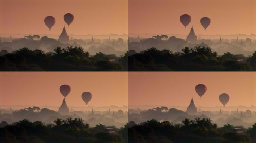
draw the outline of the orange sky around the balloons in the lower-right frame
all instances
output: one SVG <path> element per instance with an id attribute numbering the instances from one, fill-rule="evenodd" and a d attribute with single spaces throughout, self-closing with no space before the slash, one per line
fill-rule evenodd
<path id="1" fill-rule="evenodd" d="M 196 106 L 222 106 L 219 95 L 227 93 L 226 106 L 256 106 L 255 72 L 129 72 L 128 104 L 188 106 L 193 96 Z M 197 84 L 207 86 L 200 99 Z"/>

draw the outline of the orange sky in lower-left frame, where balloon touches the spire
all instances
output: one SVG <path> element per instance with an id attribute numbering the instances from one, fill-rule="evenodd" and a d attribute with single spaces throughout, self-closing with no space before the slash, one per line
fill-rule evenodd
<path id="1" fill-rule="evenodd" d="M 0 105 L 60 106 L 60 86 L 71 86 L 68 106 L 85 107 L 81 94 L 91 92 L 88 106 L 128 105 L 127 72 L 0 72 Z"/>

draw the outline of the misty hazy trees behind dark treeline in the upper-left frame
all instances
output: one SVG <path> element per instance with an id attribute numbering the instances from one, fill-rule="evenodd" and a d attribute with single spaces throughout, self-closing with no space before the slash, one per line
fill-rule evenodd
<path id="1" fill-rule="evenodd" d="M 113 36 L 113 35 L 111 35 Z M 115 35 L 116 37 L 116 35 Z M 93 37 L 92 37 L 93 38 Z M 2 42 L 1 42 L 2 41 Z M 127 51 L 127 40 L 122 38 L 117 39 L 73 39 L 71 38 L 68 44 L 63 44 L 56 39 L 48 38 L 47 36 L 40 37 L 39 35 L 28 35 L 24 38 L 6 38 L 0 37 L 0 50 L 7 50 L 9 53 L 28 47 L 31 50 L 41 49 L 46 53 L 52 52 L 56 47 L 76 46 L 83 47 L 91 54 L 102 52 L 105 54 L 122 55 Z"/>

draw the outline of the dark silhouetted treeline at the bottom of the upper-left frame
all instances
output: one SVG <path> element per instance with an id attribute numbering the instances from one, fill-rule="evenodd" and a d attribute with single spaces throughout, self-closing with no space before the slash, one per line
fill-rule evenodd
<path id="1" fill-rule="evenodd" d="M 1 71 L 122 71 L 121 64 L 109 61 L 101 52 L 90 56 L 82 47 L 57 47 L 54 52 L 45 53 L 41 49 L 22 48 L 13 53 L 2 50 Z"/>

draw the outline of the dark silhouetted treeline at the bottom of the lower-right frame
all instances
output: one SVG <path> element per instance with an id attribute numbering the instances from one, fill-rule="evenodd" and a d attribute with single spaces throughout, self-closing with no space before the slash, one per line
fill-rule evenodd
<path id="1" fill-rule="evenodd" d="M 256 123 L 247 134 L 241 134 L 235 132 L 234 127 L 229 124 L 219 128 L 208 118 L 185 119 L 182 120 L 182 124 L 152 119 L 137 125 L 131 121 L 123 130 L 128 133 L 124 137 L 126 143 L 254 143 L 256 141 Z"/>

